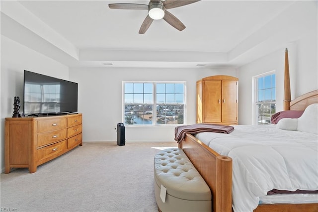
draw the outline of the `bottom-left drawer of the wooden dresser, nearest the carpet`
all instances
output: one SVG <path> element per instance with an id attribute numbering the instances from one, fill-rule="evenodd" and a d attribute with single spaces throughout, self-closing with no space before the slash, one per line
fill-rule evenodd
<path id="1" fill-rule="evenodd" d="M 45 160 L 54 157 L 67 149 L 66 140 L 43 147 L 37 150 L 37 161 Z"/>

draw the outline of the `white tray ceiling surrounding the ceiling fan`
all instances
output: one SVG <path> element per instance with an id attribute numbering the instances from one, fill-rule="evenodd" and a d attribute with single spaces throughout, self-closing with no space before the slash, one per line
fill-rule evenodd
<path id="1" fill-rule="evenodd" d="M 149 0 L 1 1 L 1 34 L 70 67 L 238 67 L 295 39 L 279 40 L 295 1 L 201 0 L 168 10 L 183 31 L 161 19 L 145 34 L 147 10 L 108 7 L 127 2 Z"/>

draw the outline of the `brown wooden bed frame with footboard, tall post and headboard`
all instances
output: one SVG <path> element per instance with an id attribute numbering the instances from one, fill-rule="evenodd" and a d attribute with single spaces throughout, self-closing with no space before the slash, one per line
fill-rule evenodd
<path id="1" fill-rule="evenodd" d="M 286 88 L 287 81 L 288 83 Z M 284 92 L 285 110 L 304 110 L 308 105 L 318 103 L 318 90 L 307 93 L 293 101 L 290 101 L 288 63 L 287 70 L 285 63 Z M 213 198 L 213 211 L 232 212 L 232 158 L 218 154 L 213 149 L 188 133 L 186 134 L 186 137 L 179 143 L 179 148 L 183 149 L 185 154 L 188 156 L 210 187 Z M 264 204 L 259 205 L 253 212 L 318 212 L 318 203 Z"/>

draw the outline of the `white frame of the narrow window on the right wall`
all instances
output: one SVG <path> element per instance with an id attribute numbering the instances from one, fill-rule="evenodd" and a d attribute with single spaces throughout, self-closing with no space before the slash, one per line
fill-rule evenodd
<path id="1" fill-rule="evenodd" d="M 252 123 L 254 125 L 264 125 L 264 124 L 271 124 L 270 122 L 270 119 L 269 119 L 269 123 L 259 123 L 258 121 L 258 105 L 260 104 L 264 104 L 264 102 L 259 102 L 258 101 L 258 79 L 259 78 L 264 78 L 266 76 L 271 76 L 271 75 L 275 75 L 275 86 L 274 87 L 271 87 L 270 89 L 275 89 L 275 101 L 270 101 L 270 102 L 266 102 L 266 104 L 270 104 L 270 105 L 275 105 L 275 111 L 276 111 L 276 90 L 277 90 L 277 75 L 276 75 L 276 71 L 273 70 L 273 71 L 270 71 L 270 72 L 266 72 L 266 73 L 263 73 L 263 74 L 260 74 L 260 75 L 256 75 L 253 77 L 253 84 L 254 84 L 254 101 L 253 101 L 253 116 L 252 116 Z M 272 79 L 271 79 L 271 83 L 272 83 Z M 271 113 L 270 111 L 270 116 L 271 117 L 274 113 Z"/>

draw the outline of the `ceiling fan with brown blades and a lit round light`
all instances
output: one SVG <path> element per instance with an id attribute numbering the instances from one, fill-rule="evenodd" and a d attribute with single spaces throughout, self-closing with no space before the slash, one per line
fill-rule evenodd
<path id="1" fill-rule="evenodd" d="M 199 0 L 150 0 L 149 4 L 109 3 L 108 6 L 111 9 L 147 9 L 148 15 L 139 29 L 139 34 L 144 34 L 152 24 L 153 20 L 159 20 L 161 18 L 174 28 L 182 31 L 185 29 L 185 25 L 173 14 L 168 12 L 167 9 L 184 6 L 196 1 Z"/>

